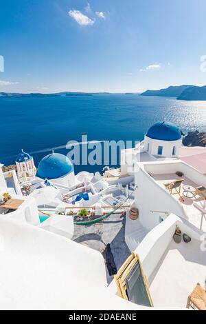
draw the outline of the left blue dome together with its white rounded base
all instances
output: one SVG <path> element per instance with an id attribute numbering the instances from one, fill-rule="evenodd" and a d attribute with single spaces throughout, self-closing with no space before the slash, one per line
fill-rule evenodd
<path id="1" fill-rule="evenodd" d="M 67 186 L 75 183 L 73 164 L 67 156 L 60 153 L 52 152 L 45 156 L 38 165 L 37 176 Z"/>

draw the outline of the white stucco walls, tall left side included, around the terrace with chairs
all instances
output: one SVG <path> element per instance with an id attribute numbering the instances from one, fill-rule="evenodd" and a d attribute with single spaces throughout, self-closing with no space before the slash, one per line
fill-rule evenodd
<path id="1" fill-rule="evenodd" d="M 182 178 L 176 171 L 183 172 Z M 139 208 L 139 220 L 148 230 L 158 225 L 159 217 L 174 213 L 189 220 L 193 225 L 205 232 L 205 215 L 194 207 L 194 201 L 203 197 L 185 198 L 182 203 L 178 195 L 171 195 L 165 189 L 165 183 L 176 179 L 184 179 L 184 185 L 206 186 L 206 178 L 201 172 L 181 160 L 155 161 L 135 165 L 135 205 Z M 181 189 L 183 194 L 183 188 Z M 135 224 L 134 224 L 135 225 Z"/>

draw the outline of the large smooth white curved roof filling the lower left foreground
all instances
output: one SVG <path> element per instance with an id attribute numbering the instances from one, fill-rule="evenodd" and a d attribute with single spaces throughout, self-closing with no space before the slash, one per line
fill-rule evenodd
<path id="1" fill-rule="evenodd" d="M 133 310 L 106 289 L 99 252 L 0 216 L 2 310 Z"/>

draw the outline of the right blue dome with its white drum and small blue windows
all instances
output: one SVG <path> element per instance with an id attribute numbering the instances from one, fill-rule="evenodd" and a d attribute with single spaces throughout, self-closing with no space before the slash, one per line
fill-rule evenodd
<path id="1" fill-rule="evenodd" d="M 177 157 L 181 145 L 181 130 L 165 121 L 152 125 L 144 137 L 144 148 L 153 156 Z"/>

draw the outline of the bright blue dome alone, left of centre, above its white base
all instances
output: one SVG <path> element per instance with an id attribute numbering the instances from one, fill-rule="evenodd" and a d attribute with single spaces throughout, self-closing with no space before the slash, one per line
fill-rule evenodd
<path id="1" fill-rule="evenodd" d="M 73 165 L 67 156 L 52 153 L 40 161 L 37 175 L 42 179 L 58 179 L 71 171 L 73 171 Z"/>

